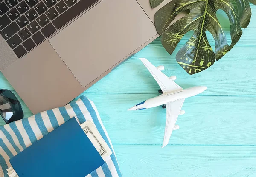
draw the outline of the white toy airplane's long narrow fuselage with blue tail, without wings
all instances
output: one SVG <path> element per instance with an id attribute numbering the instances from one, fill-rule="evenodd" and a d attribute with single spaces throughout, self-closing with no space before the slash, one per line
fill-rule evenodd
<path id="1" fill-rule="evenodd" d="M 151 107 L 157 107 L 163 104 L 168 104 L 180 99 L 189 98 L 195 95 L 198 95 L 199 93 L 202 93 L 204 90 L 206 90 L 206 87 L 204 86 L 196 86 L 191 87 L 188 89 L 180 90 L 180 91 L 174 91 L 169 93 L 163 93 L 162 95 L 156 96 L 154 98 L 150 98 L 146 101 L 143 101 L 134 107 L 131 107 L 130 111 L 132 110 L 143 110 L 148 109 Z"/>

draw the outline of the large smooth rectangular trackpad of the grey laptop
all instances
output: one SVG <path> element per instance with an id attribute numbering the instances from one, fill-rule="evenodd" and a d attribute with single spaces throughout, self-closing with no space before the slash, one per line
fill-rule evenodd
<path id="1" fill-rule="evenodd" d="M 136 0 L 102 0 L 49 42 L 86 87 L 156 34 Z"/>

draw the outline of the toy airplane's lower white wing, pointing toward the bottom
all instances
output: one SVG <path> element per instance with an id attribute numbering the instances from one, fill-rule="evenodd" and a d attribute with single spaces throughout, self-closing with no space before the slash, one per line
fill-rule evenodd
<path id="1" fill-rule="evenodd" d="M 162 147 L 166 146 L 169 143 L 173 128 L 180 114 L 180 110 L 184 103 L 184 100 L 185 98 L 166 104 L 166 127 L 164 131 Z"/>

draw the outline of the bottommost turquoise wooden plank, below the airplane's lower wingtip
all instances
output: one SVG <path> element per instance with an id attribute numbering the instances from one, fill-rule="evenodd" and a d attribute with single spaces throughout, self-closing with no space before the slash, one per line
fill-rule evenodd
<path id="1" fill-rule="evenodd" d="M 255 146 L 114 145 L 123 177 L 255 177 Z"/>

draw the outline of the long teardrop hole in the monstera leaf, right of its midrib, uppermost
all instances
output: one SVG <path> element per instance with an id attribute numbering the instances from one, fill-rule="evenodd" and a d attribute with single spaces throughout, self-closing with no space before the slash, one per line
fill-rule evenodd
<path id="1" fill-rule="evenodd" d="M 227 16 L 226 12 L 224 12 L 222 9 L 219 9 L 218 11 L 216 11 L 216 16 L 218 18 L 218 21 L 221 24 L 221 28 L 222 28 L 224 34 L 226 35 L 227 44 L 231 45 L 232 39 L 231 39 L 231 34 L 230 34 L 230 20 Z"/>

